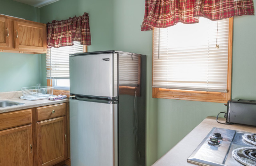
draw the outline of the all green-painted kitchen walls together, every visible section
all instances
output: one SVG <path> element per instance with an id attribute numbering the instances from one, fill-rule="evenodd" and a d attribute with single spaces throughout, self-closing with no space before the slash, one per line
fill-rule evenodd
<path id="1" fill-rule="evenodd" d="M 121 50 L 147 55 L 147 162 L 152 165 L 207 116 L 226 111 L 222 103 L 152 98 L 152 31 L 141 32 L 145 1 L 60 0 L 40 9 L 0 1 L 2 14 L 43 23 L 89 14 L 92 45 L 88 51 Z M 3 5 L 4 3 L 4 5 Z M 255 3 L 255 1 L 254 1 Z M 13 6 L 16 10 L 10 10 Z M 27 12 L 29 11 L 29 12 Z M 40 18 L 39 18 L 40 16 Z M 234 18 L 232 98 L 256 100 L 256 16 Z M 0 53 L 0 92 L 41 81 L 45 56 Z M 17 81 L 19 80 L 19 81 Z M 223 128 L 225 126 L 223 125 Z"/>

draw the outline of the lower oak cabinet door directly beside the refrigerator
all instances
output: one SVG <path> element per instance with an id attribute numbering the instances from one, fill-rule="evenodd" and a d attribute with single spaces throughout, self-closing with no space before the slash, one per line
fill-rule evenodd
<path id="1" fill-rule="evenodd" d="M 67 157 L 66 117 L 37 122 L 38 166 L 52 166 Z"/>

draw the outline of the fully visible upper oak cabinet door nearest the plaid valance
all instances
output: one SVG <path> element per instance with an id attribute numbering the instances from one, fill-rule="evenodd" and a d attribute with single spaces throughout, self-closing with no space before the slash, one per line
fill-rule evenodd
<path id="1" fill-rule="evenodd" d="M 16 49 L 46 53 L 46 25 L 13 20 Z"/>

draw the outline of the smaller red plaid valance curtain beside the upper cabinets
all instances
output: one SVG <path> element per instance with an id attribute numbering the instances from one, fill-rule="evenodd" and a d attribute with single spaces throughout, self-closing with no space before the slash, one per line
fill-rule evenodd
<path id="1" fill-rule="evenodd" d="M 47 23 L 47 48 L 60 48 L 74 45 L 79 41 L 81 45 L 91 45 L 91 32 L 88 13 L 67 20 Z"/>

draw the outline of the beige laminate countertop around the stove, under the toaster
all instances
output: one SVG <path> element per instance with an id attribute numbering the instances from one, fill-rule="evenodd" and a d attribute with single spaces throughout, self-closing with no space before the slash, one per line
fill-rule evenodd
<path id="1" fill-rule="evenodd" d="M 218 120 L 225 121 L 224 118 L 219 118 Z M 256 133 L 256 126 L 219 124 L 216 122 L 216 117 L 207 117 L 152 166 L 196 166 L 188 163 L 187 159 L 213 127 Z"/>

